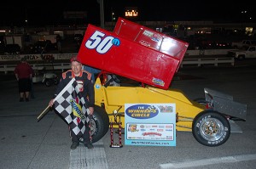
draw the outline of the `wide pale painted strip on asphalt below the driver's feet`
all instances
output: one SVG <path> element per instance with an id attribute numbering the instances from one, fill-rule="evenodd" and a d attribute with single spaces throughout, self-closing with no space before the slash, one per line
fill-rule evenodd
<path id="1" fill-rule="evenodd" d="M 71 149 L 69 169 L 108 169 L 102 140 L 93 145 L 94 149 L 87 149 L 84 144 L 79 144 L 77 149 Z"/>

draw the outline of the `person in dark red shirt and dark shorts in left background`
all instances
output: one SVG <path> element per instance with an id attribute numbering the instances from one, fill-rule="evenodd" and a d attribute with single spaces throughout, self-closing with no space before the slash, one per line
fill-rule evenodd
<path id="1" fill-rule="evenodd" d="M 23 102 L 24 99 L 28 102 L 31 91 L 32 67 L 26 62 L 25 57 L 15 67 L 15 76 L 19 82 L 20 102 Z"/>

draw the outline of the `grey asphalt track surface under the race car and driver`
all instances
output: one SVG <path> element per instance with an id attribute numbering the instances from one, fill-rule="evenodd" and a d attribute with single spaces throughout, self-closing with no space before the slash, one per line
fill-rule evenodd
<path id="1" fill-rule="evenodd" d="M 19 102 L 14 75 L 1 76 L 0 168 L 1 169 L 157 169 L 157 168 L 256 168 L 256 66 L 247 64 L 223 67 L 183 68 L 171 87 L 183 90 L 189 99 L 203 97 L 209 87 L 233 95 L 247 104 L 247 121 L 236 121 L 242 133 L 231 133 L 218 147 L 207 147 L 193 138 L 192 132 L 177 132 L 175 147 L 130 146 L 110 148 L 109 132 L 95 149 L 79 145 L 71 150 L 67 124 L 53 111 L 41 121 L 55 86 L 34 84 L 35 99 Z M 114 134 L 115 142 L 118 135 Z M 124 135 L 122 135 L 124 142 Z"/>

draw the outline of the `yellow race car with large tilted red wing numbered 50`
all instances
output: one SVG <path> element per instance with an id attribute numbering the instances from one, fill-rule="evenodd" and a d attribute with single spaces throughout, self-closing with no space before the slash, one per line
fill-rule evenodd
<path id="1" fill-rule="evenodd" d="M 224 144 L 234 121 L 246 121 L 247 105 L 210 88 L 204 89 L 205 98 L 195 100 L 170 88 L 188 46 L 187 42 L 123 18 L 119 18 L 113 32 L 88 25 L 78 57 L 84 65 L 102 70 L 95 83 L 92 141 L 108 132 L 109 122 L 115 122 L 116 128 L 120 122 L 125 128 L 127 103 L 174 103 L 177 131 L 192 132 L 206 146 Z M 124 76 L 140 85 L 110 86 L 108 74 Z"/>

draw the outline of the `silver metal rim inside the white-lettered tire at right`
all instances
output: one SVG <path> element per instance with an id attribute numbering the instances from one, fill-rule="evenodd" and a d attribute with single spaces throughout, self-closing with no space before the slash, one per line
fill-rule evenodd
<path id="1" fill-rule="evenodd" d="M 215 118 L 206 118 L 201 122 L 201 136 L 208 141 L 216 141 L 224 135 L 224 125 Z"/>

